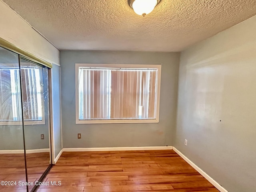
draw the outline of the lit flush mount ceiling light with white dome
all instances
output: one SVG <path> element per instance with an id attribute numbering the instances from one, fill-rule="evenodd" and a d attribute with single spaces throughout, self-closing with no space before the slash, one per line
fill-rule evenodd
<path id="1" fill-rule="evenodd" d="M 152 12 L 160 0 L 129 0 L 130 7 L 138 15 L 145 16 Z"/>

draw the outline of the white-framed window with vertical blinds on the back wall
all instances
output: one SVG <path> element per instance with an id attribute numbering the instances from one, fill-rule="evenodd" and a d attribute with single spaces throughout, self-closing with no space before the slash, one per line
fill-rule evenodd
<path id="1" fill-rule="evenodd" d="M 76 64 L 76 124 L 158 122 L 161 65 Z"/>

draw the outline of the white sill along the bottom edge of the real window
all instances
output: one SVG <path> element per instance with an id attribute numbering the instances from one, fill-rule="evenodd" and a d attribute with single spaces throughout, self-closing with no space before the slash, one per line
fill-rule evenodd
<path id="1" fill-rule="evenodd" d="M 159 123 L 157 119 L 132 120 L 76 120 L 76 124 L 116 124 L 116 123 Z"/>

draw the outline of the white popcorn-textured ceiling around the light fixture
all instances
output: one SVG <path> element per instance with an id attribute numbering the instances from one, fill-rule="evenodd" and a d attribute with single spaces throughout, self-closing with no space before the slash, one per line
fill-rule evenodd
<path id="1" fill-rule="evenodd" d="M 256 15 L 256 0 L 161 0 L 145 17 L 127 0 L 3 0 L 60 50 L 184 50 Z"/>

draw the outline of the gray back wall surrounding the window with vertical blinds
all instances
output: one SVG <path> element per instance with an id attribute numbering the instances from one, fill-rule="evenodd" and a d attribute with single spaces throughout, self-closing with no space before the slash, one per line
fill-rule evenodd
<path id="1" fill-rule="evenodd" d="M 172 146 L 179 53 L 61 51 L 63 148 Z M 151 124 L 75 124 L 75 63 L 162 64 L 160 119 Z M 82 139 L 77 139 L 77 134 Z"/>

